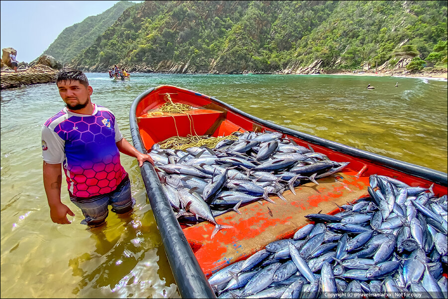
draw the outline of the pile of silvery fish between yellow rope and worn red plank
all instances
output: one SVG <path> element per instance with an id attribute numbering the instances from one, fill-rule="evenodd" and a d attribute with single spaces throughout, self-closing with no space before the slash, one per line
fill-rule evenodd
<path id="1" fill-rule="evenodd" d="M 192 147 L 160 149 L 149 154 L 180 222 L 208 220 L 215 224 L 212 238 L 223 228 L 215 217 L 238 211 L 258 200 L 274 202 L 269 195 L 282 193 L 308 181 L 334 174 L 348 162 L 331 161 L 311 148 L 298 146 L 281 133 L 237 132 L 237 140 L 224 139 L 215 149 Z"/>

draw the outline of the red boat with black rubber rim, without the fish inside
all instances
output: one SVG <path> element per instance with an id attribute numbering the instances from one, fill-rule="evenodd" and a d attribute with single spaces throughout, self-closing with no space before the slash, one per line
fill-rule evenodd
<path id="1" fill-rule="evenodd" d="M 148 114 L 156 111 L 169 94 L 171 100 L 193 107 L 188 114 Z M 194 131 L 192 130 L 194 126 Z M 179 135 L 225 136 L 234 131 L 281 132 L 301 146 L 312 146 L 334 161 L 350 162 L 335 176 L 295 188 L 296 195 L 285 191 L 288 202 L 271 197 L 276 204 L 255 202 L 229 212 L 216 220 L 233 228 L 221 230 L 211 239 L 214 225 L 202 222 L 190 227 L 179 225 L 163 193 L 154 168 L 145 162 L 141 174 L 165 245 L 168 260 L 183 298 L 215 298 L 207 277 L 225 266 L 245 259 L 266 244 L 290 238 L 307 224 L 306 214 L 335 213 L 336 204 L 367 196 L 369 175 L 397 178 L 411 186 L 429 187 L 434 193 L 447 194 L 447 173 L 348 147 L 316 136 L 284 128 L 251 116 L 224 102 L 174 86 L 158 86 L 139 95 L 130 109 L 130 129 L 136 149 L 146 152 L 155 143 Z"/>

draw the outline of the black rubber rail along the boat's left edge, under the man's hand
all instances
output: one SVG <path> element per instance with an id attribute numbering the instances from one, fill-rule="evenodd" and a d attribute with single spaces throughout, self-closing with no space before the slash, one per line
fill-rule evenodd
<path id="1" fill-rule="evenodd" d="M 147 152 L 140 138 L 135 110 L 137 104 L 153 90 L 154 88 L 151 88 L 139 95 L 132 103 L 129 113 L 132 142 L 134 147 L 142 153 Z M 154 167 L 149 162 L 144 162 L 140 172 L 180 295 L 182 298 L 216 298 L 174 216 Z"/>

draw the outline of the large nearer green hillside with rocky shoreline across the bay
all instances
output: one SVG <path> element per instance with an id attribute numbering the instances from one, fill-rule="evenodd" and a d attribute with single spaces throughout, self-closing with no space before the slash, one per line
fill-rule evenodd
<path id="1" fill-rule="evenodd" d="M 437 46 L 439 45 L 439 46 Z M 145 1 L 70 64 L 272 72 L 447 60 L 447 1 Z"/>

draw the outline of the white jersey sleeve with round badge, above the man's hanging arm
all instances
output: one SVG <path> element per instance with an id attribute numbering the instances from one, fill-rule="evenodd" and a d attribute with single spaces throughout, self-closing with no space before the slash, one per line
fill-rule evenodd
<path id="1" fill-rule="evenodd" d="M 116 134 L 115 134 L 116 135 Z M 59 164 L 65 160 L 65 141 L 53 130 L 42 126 L 42 159 L 49 164 Z"/>

